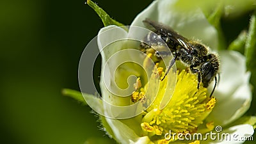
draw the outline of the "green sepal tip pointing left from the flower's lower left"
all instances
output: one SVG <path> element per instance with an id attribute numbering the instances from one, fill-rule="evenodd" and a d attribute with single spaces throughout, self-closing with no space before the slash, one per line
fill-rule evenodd
<path id="1" fill-rule="evenodd" d="M 62 94 L 68 97 L 72 97 L 73 99 L 76 99 L 78 102 L 80 102 L 83 105 L 87 105 L 87 102 L 84 100 L 82 93 L 79 91 L 64 88 L 62 90 Z M 92 97 L 94 96 L 92 95 Z"/>

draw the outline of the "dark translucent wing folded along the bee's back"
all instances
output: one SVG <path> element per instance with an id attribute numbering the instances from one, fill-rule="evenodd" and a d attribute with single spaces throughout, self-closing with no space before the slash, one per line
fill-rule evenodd
<path id="1" fill-rule="evenodd" d="M 143 20 L 143 23 L 148 29 L 157 33 L 157 35 L 166 36 L 170 38 L 170 40 L 172 40 L 173 42 L 177 42 L 177 44 L 184 47 L 185 49 L 192 51 L 191 44 L 189 44 L 189 40 L 179 35 L 172 28 L 150 19 Z"/>

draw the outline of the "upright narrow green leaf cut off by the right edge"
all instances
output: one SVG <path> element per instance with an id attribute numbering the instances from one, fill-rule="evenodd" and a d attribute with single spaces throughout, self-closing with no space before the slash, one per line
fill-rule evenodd
<path id="1" fill-rule="evenodd" d="M 245 52 L 246 56 L 246 67 L 248 70 L 255 72 L 256 71 L 256 16 L 255 14 L 251 17 L 250 27 L 248 31 L 248 37 L 245 43 Z"/>

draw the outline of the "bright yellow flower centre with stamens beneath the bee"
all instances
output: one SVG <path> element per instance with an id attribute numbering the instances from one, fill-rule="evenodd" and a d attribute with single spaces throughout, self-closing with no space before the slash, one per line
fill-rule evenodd
<path id="1" fill-rule="evenodd" d="M 162 73 L 161 76 L 164 76 L 163 68 L 157 68 L 157 71 Z M 152 75 L 156 74 L 157 72 L 153 72 Z M 164 134 L 170 131 L 172 134 L 196 132 L 198 125 L 204 123 L 204 119 L 211 113 L 216 103 L 214 97 L 207 96 L 207 88 L 202 85 L 197 88 L 198 82 L 195 74 L 181 70 L 177 71 L 177 83 L 172 99 L 164 109 L 160 109 L 159 106 L 166 90 L 167 81 L 167 77 L 160 81 L 156 100 L 143 114 L 141 122 L 143 135 L 149 136 L 153 141 L 158 141 L 157 143 L 169 143 L 170 141 L 164 139 Z M 138 86 L 136 88 L 137 92 L 132 93 L 132 102 L 143 99 L 148 87 L 146 84 L 143 88 L 138 88 Z M 211 129 L 212 125 L 207 124 L 206 127 Z"/>

